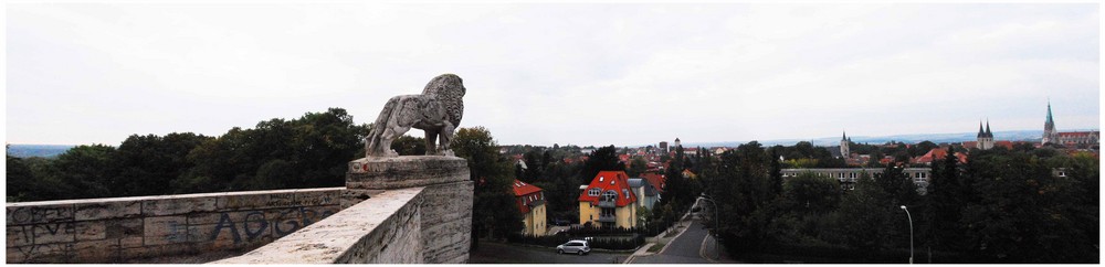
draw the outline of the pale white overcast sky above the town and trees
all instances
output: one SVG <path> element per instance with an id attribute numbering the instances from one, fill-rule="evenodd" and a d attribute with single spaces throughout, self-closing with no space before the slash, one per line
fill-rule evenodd
<path id="1" fill-rule="evenodd" d="M 455 73 L 502 145 L 1099 127 L 1096 3 L 9 3 L 7 142 L 356 122 Z M 421 136 L 421 130 L 409 135 Z"/>

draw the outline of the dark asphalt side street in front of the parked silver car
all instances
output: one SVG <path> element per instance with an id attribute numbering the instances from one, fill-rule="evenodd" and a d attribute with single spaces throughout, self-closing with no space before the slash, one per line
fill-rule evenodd
<path id="1" fill-rule="evenodd" d="M 698 239 L 699 242 L 702 238 Z M 588 255 L 556 254 L 552 248 L 517 246 L 480 241 L 470 264 L 621 264 L 630 253 L 591 252 Z"/>

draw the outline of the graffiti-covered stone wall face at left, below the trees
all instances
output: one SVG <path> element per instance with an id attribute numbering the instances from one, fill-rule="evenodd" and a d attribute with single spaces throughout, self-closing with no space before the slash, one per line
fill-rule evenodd
<path id="1" fill-rule="evenodd" d="M 122 263 L 249 249 L 340 211 L 345 188 L 7 204 L 7 263 Z"/>

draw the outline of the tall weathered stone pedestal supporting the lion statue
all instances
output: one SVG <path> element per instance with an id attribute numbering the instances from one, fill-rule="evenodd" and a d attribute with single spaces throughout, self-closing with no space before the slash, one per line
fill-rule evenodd
<path id="1" fill-rule="evenodd" d="M 421 203 L 423 263 L 463 264 L 472 243 L 473 182 L 456 157 L 404 156 L 349 162 L 343 207 L 388 190 L 424 186 Z"/>

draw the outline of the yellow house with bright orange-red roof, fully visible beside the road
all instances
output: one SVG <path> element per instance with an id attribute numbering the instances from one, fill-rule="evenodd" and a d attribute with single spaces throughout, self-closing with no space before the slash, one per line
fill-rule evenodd
<path id="1" fill-rule="evenodd" d="M 636 227 L 636 194 L 624 171 L 601 171 L 579 194 L 579 224 Z"/>

